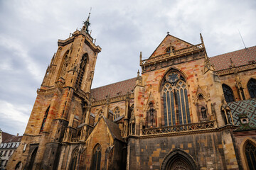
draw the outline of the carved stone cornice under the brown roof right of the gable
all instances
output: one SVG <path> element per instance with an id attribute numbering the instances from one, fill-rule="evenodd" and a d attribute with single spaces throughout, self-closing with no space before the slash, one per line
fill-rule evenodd
<path id="1" fill-rule="evenodd" d="M 234 74 L 234 71 L 236 72 L 245 72 L 250 69 L 256 69 L 256 63 L 246 64 L 235 68 L 228 68 L 228 69 L 221 69 L 218 71 L 215 71 L 218 76 L 225 76 L 228 74 Z"/>

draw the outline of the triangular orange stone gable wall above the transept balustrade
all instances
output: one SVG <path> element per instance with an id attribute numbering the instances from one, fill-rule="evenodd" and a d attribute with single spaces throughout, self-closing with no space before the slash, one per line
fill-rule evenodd
<path id="1" fill-rule="evenodd" d="M 164 55 L 169 47 L 174 47 L 174 50 L 181 50 L 186 47 L 191 47 L 192 44 L 174 37 L 173 35 L 166 35 L 160 45 L 154 50 L 150 57 L 156 57 L 158 55 Z M 149 58 L 150 58 L 149 57 Z"/>

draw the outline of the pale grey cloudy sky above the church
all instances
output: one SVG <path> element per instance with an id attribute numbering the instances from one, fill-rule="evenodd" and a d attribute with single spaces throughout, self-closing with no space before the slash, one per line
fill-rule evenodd
<path id="1" fill-rule="evenodd" d="M 0 128 L 23 134 L 36 89 L 58 39 L 90 16 L 102 47 L 92 87 L 137 76 L 139 52 L 151 55 L 170 32 L 192 44 L 203 34 L 208 56 L 256 45 L 256 1 L 4 1 L 0 0 Z"/>

